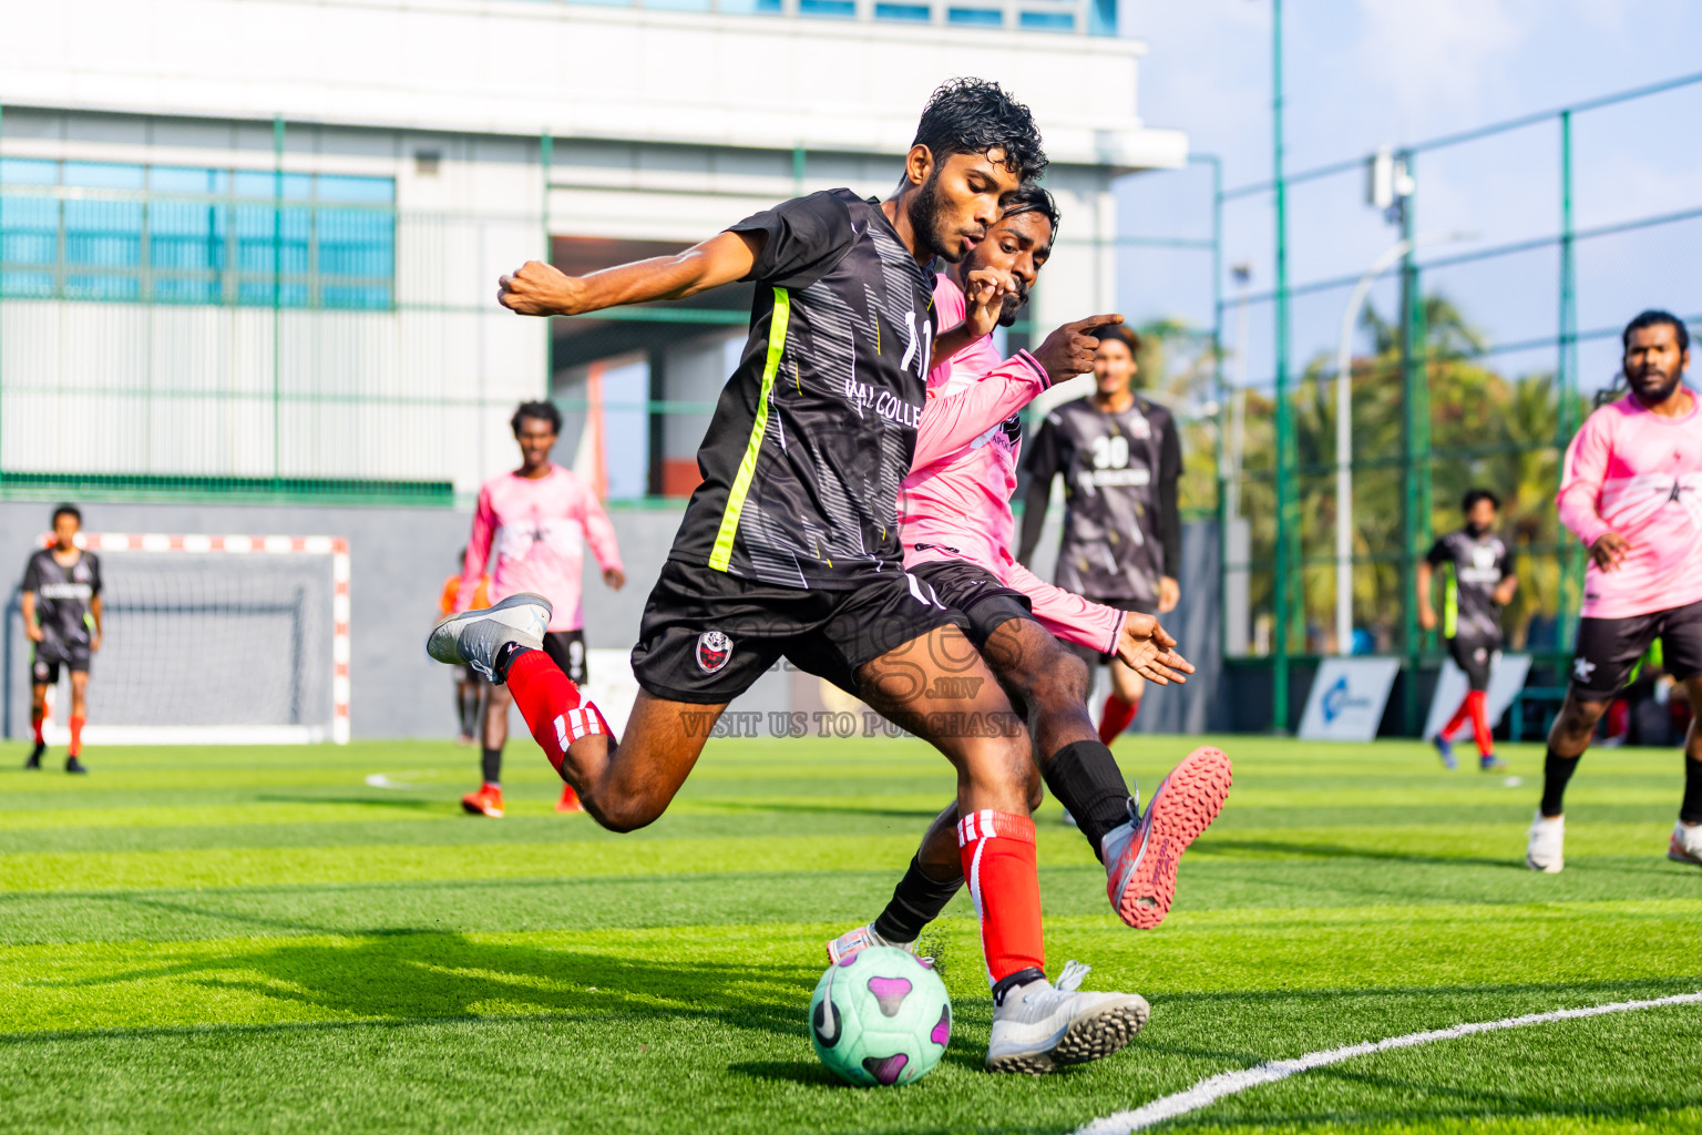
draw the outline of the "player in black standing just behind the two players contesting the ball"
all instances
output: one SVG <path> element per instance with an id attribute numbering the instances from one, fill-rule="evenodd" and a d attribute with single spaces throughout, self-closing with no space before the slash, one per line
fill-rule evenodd
<path id="1" fill-rule="evenodd" d="M 1127 327 L 1094 332 L 1094 393 L 1052 410 L 1028 449 L 1028 493 L 1016 558 L 1028 563 L 1047 519 L 1052 478 L 1064 475 L 1064 541 L 1054 582 L 1122 611 L 1169 614 L 1181 587 L 1181 441 L 1171 412 L 1132 388 L 1140 337 Z M 1099 715 L 1110 745 L 1140 711 L 1145 682 L 1120 659 L 1071 647 L 1111 667 Z"/>

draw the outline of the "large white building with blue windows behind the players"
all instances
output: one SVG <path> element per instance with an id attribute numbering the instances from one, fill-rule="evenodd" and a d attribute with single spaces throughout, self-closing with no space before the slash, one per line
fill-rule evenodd
<path id="1" fill-rule="evenodd" d="M 979 75 L 1054 160 L 1037 320 L 1105 310 L 1111 179 L 1186 157 L 1115 31 L 1115 0 L 7 5 L 0 476 L 465 500 L 514 403 L 596 364 L 611 495 L 677 493 L 749 296 L 546 328 L 497 276 L 885 194 L 928 92 Z"/>

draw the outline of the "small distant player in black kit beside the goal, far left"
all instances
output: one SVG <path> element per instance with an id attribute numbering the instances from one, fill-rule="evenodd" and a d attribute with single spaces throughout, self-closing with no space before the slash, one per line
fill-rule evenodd
<path id="1" fill-rule="evenodd" d="M 34 643 L 31 657 L 29 720 L 36 727 L 36 747 L 29 750 L 26 769 L 41 767 L 48 742 L 41 737 L 48 716 L 48 689 L 58 686 L 60 667 L 71 674 L 71 745 L 65 771 L 83 767 L 83 721 L 89 720 L 89 659 L 100 650 L 100 560 L 77 546 L 83 514 L 77 505 L 61 504 L 53 510 L 53 546 L 43 548 L 24 567 L 20 606 L 24 633 Z"/>

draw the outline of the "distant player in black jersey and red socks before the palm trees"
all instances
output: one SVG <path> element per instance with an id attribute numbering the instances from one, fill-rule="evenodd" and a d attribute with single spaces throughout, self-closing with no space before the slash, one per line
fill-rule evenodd
<path id="1" fill-rule="evenodd" d="M 1511 572 L 1506 545 L 1494 534 L 1499 499 L 1488 488 L 1472 488 L 1460 500 L 1465 528 L 1436 538 L 1430 555 L 1418 565 L 1418 625 L 1436 630 L 1436 609 L 1430 602 L 1435 568 L 1443 568 L 1447 592 L 1442 604 L 1442 636 L 1455 665 L 1465 672 L 1465 699 L 1435 735 L 1433 744 L 1447 767 L 1455 767 L 1454 744 L 1448 740 L 1467 718 L 1477 740 L 1477 767 L 1494 773 L 1506 766 L 1494 756 L 1489 715 L 1484 698 L 1489 691 L 1489 667 L 1501 650 L 1501 607 L 1513 599 L 1518 577 Z"/>

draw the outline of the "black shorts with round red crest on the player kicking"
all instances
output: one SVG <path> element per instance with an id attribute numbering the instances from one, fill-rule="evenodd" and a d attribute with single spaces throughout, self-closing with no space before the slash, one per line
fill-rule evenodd
<path id="1" fill-rule="evenodd" d="M 897 568 L 849 590 L 807 590 L 669 560 L 643 607 L 633 676 L 654 698 L 718 704 L 785 657 L 861 696 L 860 667 L 948 623 L 968 619 Z"/>

